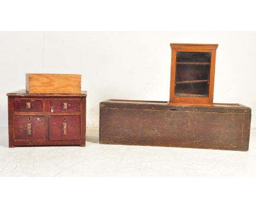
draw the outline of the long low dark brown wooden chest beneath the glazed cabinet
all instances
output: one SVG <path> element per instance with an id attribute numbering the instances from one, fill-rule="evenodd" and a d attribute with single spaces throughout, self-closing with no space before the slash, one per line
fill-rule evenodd
<path id="1" fill-rule="evenodd" d="M 247 151 L 251 108 L 240 104 L 100 103 L 100 143 Z"/>

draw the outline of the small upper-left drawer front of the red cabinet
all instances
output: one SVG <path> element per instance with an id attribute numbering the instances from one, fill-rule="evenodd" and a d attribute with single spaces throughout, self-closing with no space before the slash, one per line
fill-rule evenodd
<path id="1" fill-rule="evenodd" d="M 13 107 L 16 112 L 43 112 L 43 101 L 15 100 Z"/>

